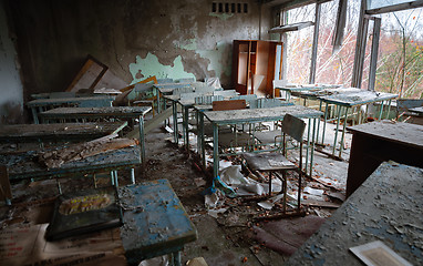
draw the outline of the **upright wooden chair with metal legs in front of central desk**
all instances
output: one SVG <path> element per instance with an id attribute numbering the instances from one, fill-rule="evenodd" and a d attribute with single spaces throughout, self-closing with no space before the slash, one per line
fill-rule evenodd
<path id="1" fill-rule="evenodd" d="M 287 215 L 287 171 L 297 171 L 299 173 L 298 180 L 298 207 L 297 214 L 301 211 L 301 180 L 302 180 L 302 135 L 306 129 L 306 123 L 290 114 L 286 114 L 281 124 L 282 131 L 282 153 L 244 153 L 243 157 L 247 163 L 247 166 L 252 172 L 269 172 L 269 195 L 271 195 L 271 178 L 274 172 L 282 173 L 282 192 L 283 192 L 283 205 L 282 216 Z M 299 166 L 290 162 L 287 157 L 286 137 L 291 136 L 299 142 Z M 280 176 L 277 175 L 279 178 Z"/>

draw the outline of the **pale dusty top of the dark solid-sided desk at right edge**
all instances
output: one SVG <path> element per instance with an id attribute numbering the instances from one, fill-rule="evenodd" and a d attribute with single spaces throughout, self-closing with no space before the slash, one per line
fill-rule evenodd
<path id="1" fill-rule="evenodd" d="M 423 125 L 381 121 L 348 126 L 347 129 L 353 134 L 364 134 L 412 147 L 423 149 Z"/>

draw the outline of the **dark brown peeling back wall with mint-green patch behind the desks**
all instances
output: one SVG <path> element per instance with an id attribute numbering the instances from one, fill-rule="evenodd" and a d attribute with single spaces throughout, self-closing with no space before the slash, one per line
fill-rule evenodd
<path id="1" fill-rule="evenodd" d="M 248 13 L 223 14 L 210 0 L 9 0 L 25 96 L 63 91 L 86 54 L 127 83 L 218 76 L 228 86 L 233 40 L 267 39 L 271 21 L 258 1 L 244 2 Z"/>

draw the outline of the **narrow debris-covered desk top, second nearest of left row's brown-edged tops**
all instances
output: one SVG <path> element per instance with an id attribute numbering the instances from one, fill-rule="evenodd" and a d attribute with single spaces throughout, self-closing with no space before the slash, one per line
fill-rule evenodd
<path id="1" fill-rule="evenodd" d="M 138 117 L 152 110 L 151 106 L 112 106 L 112 108 L 59 108 L 40 113 L 41 117 Z"/>

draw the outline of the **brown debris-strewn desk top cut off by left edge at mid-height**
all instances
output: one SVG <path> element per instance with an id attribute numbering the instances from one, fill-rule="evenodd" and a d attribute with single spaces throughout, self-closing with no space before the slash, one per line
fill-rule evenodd
<path id="1" fill-rule="evenodd" d="M 120 132 L 127 125 L 123 122 L 102 123 L 58 123 L 58 124 L 14 124 L 0 127 L 0 142 L 69 141 L 93 140 Z"/>

